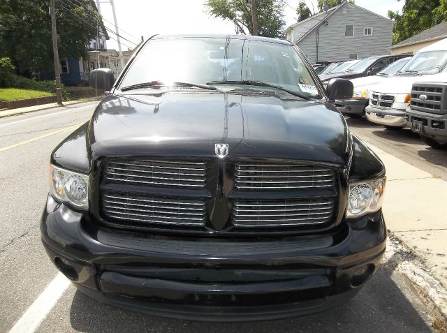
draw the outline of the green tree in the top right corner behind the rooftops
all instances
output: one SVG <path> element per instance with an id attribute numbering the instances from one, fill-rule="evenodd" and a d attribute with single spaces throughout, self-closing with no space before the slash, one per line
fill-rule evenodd
<path id="1" fill-rule="evenodd" d="M 447 0 L 406 0 L 402 14 L 388 10 L 394 21 L 393 44 L 447 20 Z"/>

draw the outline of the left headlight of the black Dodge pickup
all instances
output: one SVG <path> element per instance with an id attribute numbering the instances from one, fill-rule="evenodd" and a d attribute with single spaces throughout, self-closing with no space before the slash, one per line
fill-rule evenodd
<path id="1" fill-rule="evenodd" d="M 60 202 L 89 208 L 89 176 L 50 165 L 50 193 Z"/>

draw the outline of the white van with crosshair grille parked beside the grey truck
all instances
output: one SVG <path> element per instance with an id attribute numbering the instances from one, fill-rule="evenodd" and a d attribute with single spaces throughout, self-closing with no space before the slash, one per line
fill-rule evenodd
<path id="1" fill-rule="evenodd" d="M 395 129 L 407 126 L 406 107 L 411 101 L 413 82 L 430 81 L 433 74 L 446 71 L 447 38 L 420 49 L 395 77 L 377 84 L 366 107 L 369 121 Z"/>

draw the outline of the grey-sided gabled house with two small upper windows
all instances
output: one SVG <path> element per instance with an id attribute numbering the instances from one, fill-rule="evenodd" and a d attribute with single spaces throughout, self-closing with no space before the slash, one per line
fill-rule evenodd
<path id="1" fill-rule="evenodd" d="M 344 2 L 285 31 L 312 64 L 390 54 L 393 21 Z"/>

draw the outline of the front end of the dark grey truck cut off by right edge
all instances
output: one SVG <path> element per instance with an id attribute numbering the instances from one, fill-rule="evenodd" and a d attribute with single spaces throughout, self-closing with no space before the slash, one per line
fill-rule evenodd
<path id="1" fill-rule="evenodd" d="M 447 149 L 447 83 L 414 83 L 406 117 L 427 145 Z"/>

